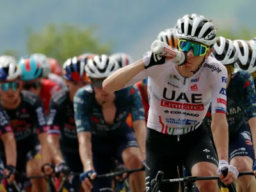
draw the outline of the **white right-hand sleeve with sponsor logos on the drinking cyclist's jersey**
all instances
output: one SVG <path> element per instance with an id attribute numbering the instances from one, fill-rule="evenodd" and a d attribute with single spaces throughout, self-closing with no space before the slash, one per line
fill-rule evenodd
<path id="1" fill-rule="evenodd" d="M 227 108 L 227 68 L 224 65 L 220 65 L 220 72 L 211 72 L 211 97 L 212 97 L 212 114 L 223 113 L 226 114 Z"/>

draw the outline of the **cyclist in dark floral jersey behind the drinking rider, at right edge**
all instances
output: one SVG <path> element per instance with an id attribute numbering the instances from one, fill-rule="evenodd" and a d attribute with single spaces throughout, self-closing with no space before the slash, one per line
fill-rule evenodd
<path id="1" fill-rule="evenodd" d="M 245 44 L 245 45 L 244 45 Z M 255 159 L 255 152 L 253 150 L 252 135 L 256 134 L 256 93 L 252 76 L 249 72 L 239 70 L 234 72 L 234 63 L 240 65 L 241 58 L 239 52 L 247 46 L 250 52 L 244 54 L 255 54 L 255 48 L 251 47 L 245 41 L 243 44 L 235 41 L 219 37 L 214 45 L 212 55 L 225 67 L 228 71 L 227 78 L 227 102 L 218 99 L 218 102 L 223 102 L 227 105 L 227 122 L 229 132 L 229 161 L 230 164 L 236 166 L 239 172 L 252 172 L 253 161 Z M 256 47 L 256 46 L 255 46 Z M 254 53 L 255 52 L 255 53 Z M 238 55 L 238 60 L 237 60 Z M 241 55 L 241 54 L 240 54 Z M 248 58 L 248 65 L 250 60 Z M 226 92 L 225 92 L 226 94 Z M 248 118 L 249 127 L 244 118 Z M 208 109 L 204 120 L 207 127 L 211 127 L 211 107 Z M 252 134 L 251 134 L 252 131 Z M 256 138 L 255 138 L 256 140 Z M 255 144 L 254 144 L 255 145 Z M 256 147 L 256 146 L 255 146 Z M 206 150 L 206 149 L 205 149 Z M 205 153 L 207 153 L 205 151 Z M 239 188 L 242 191 L 256 191 L 256 180 L 252 176 L 239 177 Z"/>

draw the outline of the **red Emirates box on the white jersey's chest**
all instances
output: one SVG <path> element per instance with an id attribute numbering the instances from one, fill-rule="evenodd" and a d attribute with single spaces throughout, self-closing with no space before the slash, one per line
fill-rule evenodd
<path id="1" fill-rule="evenodd" d="M 193 111 L 203 111 L 204 110 L 204 104 L 187 104 L 187 103 L 181 103 L 181 102 L 172 102 L 168 100 L 161 100 L 161 106 L 164 106 L 166 108 L 175 108 L 175 109 L 187 109 L 187 110 L 193 110 Z"/>

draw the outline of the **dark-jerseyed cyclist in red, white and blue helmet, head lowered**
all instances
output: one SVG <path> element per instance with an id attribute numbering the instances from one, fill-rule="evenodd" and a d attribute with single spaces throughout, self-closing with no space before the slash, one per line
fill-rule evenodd
<path id="1" fill-rule="evenodd" d="M 47 132 L 48 141 L 56 168 L 61 173 L 68 173 L 68 170 L 76 173 L 83 172 L 74 121 L 73 97 L 79 88 L 88 84 L 84 70 L 85 63 L 86 58 L 79 60 L 77 57 L 69 58 L 64 63 L 63 71 L 67 88 L 56 93 L 50 101 L 47 120 L 50 126 Z M 68 188 L 68 191 L 71 191 L 70 188 L 79 191 L 79 180 L 77 182 L 73 179 L 71 186 L 66 182 L 65 188 Z"/>

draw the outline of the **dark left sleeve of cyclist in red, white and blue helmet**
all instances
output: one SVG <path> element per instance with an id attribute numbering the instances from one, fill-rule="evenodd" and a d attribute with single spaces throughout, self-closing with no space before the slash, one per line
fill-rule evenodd
<path id="1" fill-rule="evenodd" d="M 47 117 L 47 125 L 49 126 L 49 130 L 47 134 L 56 134 L 60 135 L 60 129 L 63 127 L 63 109 L 61 109 L 61 105 L 54 102 L 54 98 L 50 100 L 50 109 L 49 115 Z"/>

